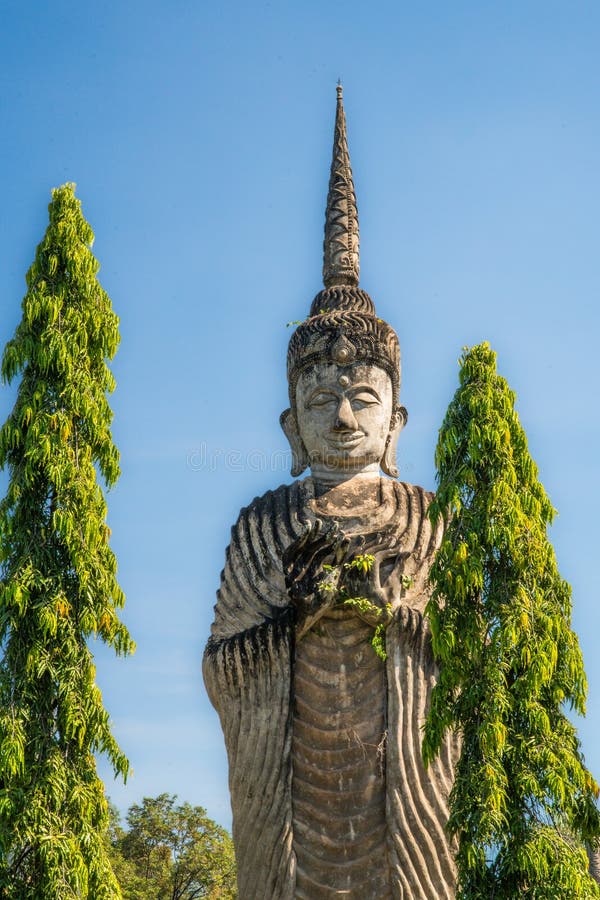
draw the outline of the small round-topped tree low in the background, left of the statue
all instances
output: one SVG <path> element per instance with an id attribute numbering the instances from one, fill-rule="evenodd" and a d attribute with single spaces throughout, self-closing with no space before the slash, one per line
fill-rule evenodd
<path id="1" fill-rule="evenodd" d="M 128 830 L 115 818 L 110 833 L 113 868 L 124 900 L 234 900 L 235 857 L 231 838 L 200 806 L 176 805 L 176 797 L 145 797 L 127 814 Z"/>

